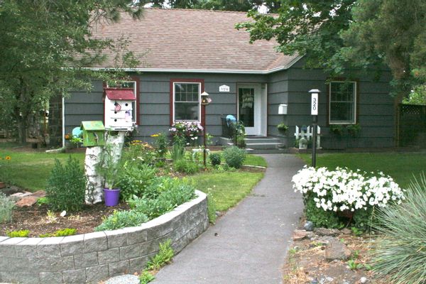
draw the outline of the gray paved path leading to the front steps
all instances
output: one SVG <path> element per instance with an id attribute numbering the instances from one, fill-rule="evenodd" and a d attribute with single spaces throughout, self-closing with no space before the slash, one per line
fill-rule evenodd
<path id="1" fill-rule="evenodd" d="M 192 241 L 152 283 L 282 282 L 285 253 L 303 208 L 291 178 L 303 163 L 294 155 L 262 156 L 268 169 L 253 194 Z"/>

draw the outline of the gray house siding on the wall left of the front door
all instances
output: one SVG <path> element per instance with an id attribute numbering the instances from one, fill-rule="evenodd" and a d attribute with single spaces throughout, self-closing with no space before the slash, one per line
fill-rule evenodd
<path id="1" fill-rule="evenodd" d="M 137 138 L 148 142 L 153 133 L 168 133 L 170 128 L 170 80 L 204 80 L 204 91 L 212 98 L 212 104 L 206 108 L 207 132 L 217 137 L 222 135 L 221 116 L 236 115 L 237 84 L 267 82 L 264 75 L 146 72 L 137 77 L 140 82 Z M 219 92 L 222 84 L 229 86 L 229 92 Z M 65 100 L 65 133 L 80 126 L 81 121 L 104 119 L 102 88 L 102 82 L 94 82 L 91 93 L 72 92 Z"/>

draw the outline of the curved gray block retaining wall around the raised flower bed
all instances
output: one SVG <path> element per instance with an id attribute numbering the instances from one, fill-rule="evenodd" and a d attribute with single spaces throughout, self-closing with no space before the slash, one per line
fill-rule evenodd
<path id="1" fill-rule="evenodd" d="M 0 283 L 98 283 L 140 272 L 158 244 L 171 239 L 178 253 L 207 229 L 207 196 L 196 194 L 137 227 L 50 238 L 0 236 Z"/>

